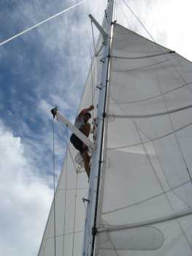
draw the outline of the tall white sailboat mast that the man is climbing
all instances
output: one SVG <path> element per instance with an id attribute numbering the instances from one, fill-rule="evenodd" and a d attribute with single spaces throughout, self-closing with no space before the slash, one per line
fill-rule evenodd
<path id="1" fill-rule="evenodd" d="M 103 147 L 104 147 L 104 123 L 107 105 L 107 86 L 109 83 L 109 67 L 110 67 L 110 45 L 112 35 L 112 18 L 113 18 L 114 0 L 108 0 L 105 18 L 107 20 L 104 28 L 108 36 L 105 38 L 104 50 L 100 57 L 104 63 L 101 69 L 101 85 L 102 89 L 99 93 L 98 101 L 98 120 L 96 150 L 92 156 L 92 167 L 90 177 L 90 188 L 88 195 L 88 208 L 85 220 L 85 236 L 82 248 L 82 256 L 93 256 L 95 252 L 95 241 L 97 233 L 97 214 L 99 203 L 99 187 L 101 179 L 101 169 L 103 166 Z"/>

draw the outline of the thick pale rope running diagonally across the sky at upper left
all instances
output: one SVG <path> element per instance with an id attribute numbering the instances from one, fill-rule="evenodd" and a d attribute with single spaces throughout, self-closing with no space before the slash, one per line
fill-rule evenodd
<path id="1" fill-rule="evenodd" d="M 63 11 L 56 13 L 55 15 L 51 16 L 50 18 L 47 18 L 47 19 L 45 19 L 45 20 L 42 20 L 41 22 L 37 23 L 36 25 L 31 26 L 30 28 L 21 31 L 21 32 L 18 33 L 18 34 L 15 34 L 15 36 L 12 36 L 12 37 L 10 37 L 10 38 L 4 40 L 3 42 L 1 42 L 1 43 L 0 43 L 0 46 L 6 44 L 7 42 L 11 41 L 12 39 L 15 39 L 16 37 L 20 37 L 22 34 L 25 34 L 26 32 L 31 31 L 32 29 L 37 28 L 37 26 L 40 26 L 40 25 L 42 25 L 43 23 L 46 23 L 47 21 L 52 20 L 52 19 L 55 18 L 55 17 L 58 17 L 59 15 L 63 14 L 64 12 L 67 12 L 67 11 L 73 9 L 74 7 L 77 7 L 77 5 L 82 4 L 84 1 L 86 1 L 86 0 L 82 0 L 82 1 L 80 1 L 79 3 L 74 4 L 74 5 L 72 5 L 71 7 L 66 8 L 66 9 L 63 10 Z"/>

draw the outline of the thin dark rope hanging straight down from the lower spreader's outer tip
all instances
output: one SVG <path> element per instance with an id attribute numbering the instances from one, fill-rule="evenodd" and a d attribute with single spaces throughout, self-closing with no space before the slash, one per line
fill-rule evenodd
<path id="1" fill-rule="evenodd" d="M 56 256 L 56 227 L 55 227 L 55 118 L 53 117 L 53 229 L 54 229 L 54 255 Z"/>

